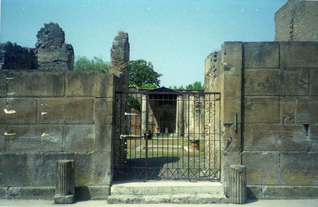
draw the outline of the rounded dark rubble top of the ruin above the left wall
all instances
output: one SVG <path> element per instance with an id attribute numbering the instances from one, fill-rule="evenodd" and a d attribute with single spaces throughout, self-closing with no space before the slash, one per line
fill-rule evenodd
<path id="1" fill-rule="evenodd" d="M 61 47 L 65 42 L 65 34 L 62 28 L 57 23 L 44 23 L 44 27 L 38 31 L 38 42 L 36 47 L 45 47 L 47 45 L 54 45 Z"/>

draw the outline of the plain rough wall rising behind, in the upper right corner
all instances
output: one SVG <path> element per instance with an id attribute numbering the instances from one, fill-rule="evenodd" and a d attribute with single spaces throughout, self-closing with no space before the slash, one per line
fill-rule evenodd
<path id="1" fill-rule="evenodd" d="M 318 1 L 289 0 L 275 13 L 275 41 L 318 41 Z"/>

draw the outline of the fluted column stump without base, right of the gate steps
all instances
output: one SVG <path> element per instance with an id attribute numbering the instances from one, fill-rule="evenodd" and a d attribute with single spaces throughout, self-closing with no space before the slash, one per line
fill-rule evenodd
<path id="1" fill-rule="evenodd" d="M 231 204 L 246 203 L 246 167 L 230 166 L 229 202 Z"/>

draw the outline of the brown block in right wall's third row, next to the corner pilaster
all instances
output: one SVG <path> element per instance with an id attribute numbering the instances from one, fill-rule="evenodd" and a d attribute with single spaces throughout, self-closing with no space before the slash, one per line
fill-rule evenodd
<path id="1" fill-rule="evenodd" d="M 245 123 L 278 123 L 278 97 L 246 97 L 244 104 Z"/>

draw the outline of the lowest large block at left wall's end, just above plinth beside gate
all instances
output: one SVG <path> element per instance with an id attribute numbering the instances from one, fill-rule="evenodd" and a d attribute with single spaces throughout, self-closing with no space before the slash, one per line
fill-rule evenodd
<path id="1" fill-rule="evenodd" d="M 112 151 L 94 152 L 92 185 L 110 185 L 113 179 Z"/>

